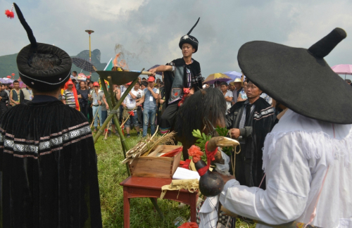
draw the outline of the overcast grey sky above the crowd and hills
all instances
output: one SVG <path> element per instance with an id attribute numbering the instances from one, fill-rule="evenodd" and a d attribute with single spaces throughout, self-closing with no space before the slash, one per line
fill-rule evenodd
<path id="1" fill-rule="evenodd" d="M 115 56 L 121 44 L 131 70 L 150 68 L 182 57 L 178 42 L 196 20 L 191 33 L 199 40 L 194 59 L 203 77 L 214 72 L 240 71 L 239 47 L 253 40 L 309 48 L 334 27 L 348 36 L 325 58 L 330 66 L 351 63 L 352 1 L 208 1 L 208 0 L 18 0 L 37 42 L 55 44 L 75 56 L 101 51 L 101 62 Z M 11 1 L 0 0 L 1 11 Z M 18 53 L 29 44 L 15 15 L 0 17 L 0 56 Z M 352 64 L 352 63 L 351 63 Z M 351 78 L 351 77 L 348 77 Z"/>

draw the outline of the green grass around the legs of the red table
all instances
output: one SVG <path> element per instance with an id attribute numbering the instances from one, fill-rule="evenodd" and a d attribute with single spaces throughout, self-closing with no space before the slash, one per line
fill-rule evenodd
<path id="1" fill-rule="evenodd" d="M 139 141 L 137 133 L 131 132 L 131 137 L 126 139 L 127 146 L 132 148 Z M 115 135 L 104 141 L 100 137 L 95 144 L 98 155 L 99 188 L 101 196 L 101 216 L 103 227 L 123 227 L 123 191 L 120 182 L 127 178 L 126 166 L 121 164 L 123 153 L 120 138 Z M 172 222 L 179 216 L 190 217 L 189 205 L 177 208 L 175 201 L 160 200 L 158 205 L 164 213 L 162 221 L 149 198 L 132 198 L 130 210 L 131 227 L 174 227 Z M 238 222 L 237 222 L 238 223 Z M 253 227 L 241 222 L 237 227 Z"/>

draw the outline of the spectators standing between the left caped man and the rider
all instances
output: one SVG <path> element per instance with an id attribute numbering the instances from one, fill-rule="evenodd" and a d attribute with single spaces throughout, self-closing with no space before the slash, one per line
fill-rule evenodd
<path id="1" fill-rule="evenodd" d="M 75 75 L 77 75 L 77 72 L 73 72 L 73 76 Z M 108 102 L 101 90 L 101 85 L 99 82 L 93 82 L 90 79 L 85 82 L 77 82 L 75 79 L 71 81 L 68 82 L 68 88 L 63 91 L 62 96 L 58 99 L 71 108 L 77 108 L 76 101 L 78 101 L 80 111 L 94 125 L 94 132 L 97 132 L 99 126 L 103 125 L 103 122 L 110 114 Z M 107 88 L 113 87 L 115 103 L 120 100 L 120 97 L 130 84 L 131 82 L 122 85 L 106 84 Z M 74 87 L 76 88 L 77 96 L 74 96 Z M 162 99 L 161 94 L 164 94 L 161 79 L 139 77 L 139 81 L 134 84 L 134 88 L 130 90 L 122 101 L 117 113 L 120 125 L 125 129 L 126 137 L 130 137 L 130 129 L 133 127 L 137 131 L 137 136 L 146 137 L 149 127 L 151 134 L 155 133 L 158 118 L 161 115 L 163 99 L 165 99 L 165 97 Z M 108 136 L 111 134 L 118 136 L 112 120 L 105 131 Z"/>

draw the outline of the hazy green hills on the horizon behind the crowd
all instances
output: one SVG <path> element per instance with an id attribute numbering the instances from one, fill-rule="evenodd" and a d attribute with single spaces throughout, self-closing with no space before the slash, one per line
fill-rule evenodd
<path id="1" fill-rule="evenodd" d="M 89 50 L 81 51 L 77 56 L 71 56 L 82 58 L 89 61 Z M 92 64 L 98 70 L 103 70 L 106 67 L 107 63 L 100 63 L 101 52 L 99 49 L 95 49 L 92 51 Z M 15 79 L 18 79 L 18 68 L 16 64 L 17 53 L 7 56 L 0 56 L 0 77 L 6 77 L 7 75 L 11 75 L 11 73 L 15 73 Z M 72 71 L 77 71 L 78 73 L 81 72 L 80 68 L 77 68 L 74 64 L 71 68 Z M 84 75 L 89 75 L 89 72 L 82 71 Z M 92 74 L 92 80 L 97 81 L 99 75 L 97 73 Z"/>

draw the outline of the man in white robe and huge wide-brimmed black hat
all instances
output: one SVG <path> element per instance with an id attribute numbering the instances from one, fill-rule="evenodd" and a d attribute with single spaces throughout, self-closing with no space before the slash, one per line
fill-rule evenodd
<path id="1" fill-rule="evenodd" d="M 220 203 L 232 213 L 265 224 L 352 226 L 352 88 L 324 60 L 345 37 L 336 28 L 309 49 L 261 41 L 239 49 L 246 77 L 288 109 L 265 138 L 266 189 L 224 177 Z M 331 96 L 326 88 L 339 89 Z"/>

